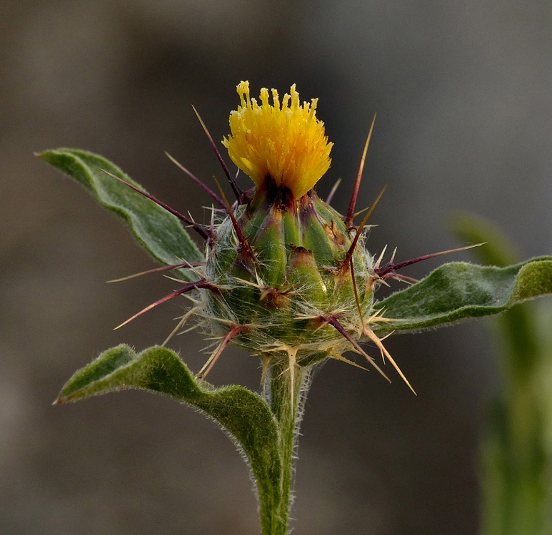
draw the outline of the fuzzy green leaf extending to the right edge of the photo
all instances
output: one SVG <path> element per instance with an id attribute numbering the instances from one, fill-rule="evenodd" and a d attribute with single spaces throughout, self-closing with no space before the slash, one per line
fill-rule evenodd
<path id="1" fill-rule="evenodd" d="M 547 293 L 552 293 L 552 257 L 508 267 L 453 262 L 378 302 L 383 317 L 395 320 L 378 332 L 421 330 L 498 314 Z"/>

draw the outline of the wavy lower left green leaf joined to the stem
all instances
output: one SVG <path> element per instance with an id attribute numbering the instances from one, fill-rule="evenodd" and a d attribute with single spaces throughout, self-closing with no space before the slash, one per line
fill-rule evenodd
<path id="1" fill-rule="evenodd" d="M 150 347 L 136 354 L 128 345 L 103 352 L 64 385 L 55 403 L 74 402 L 121 389 L 145 389 L 165 394 L 201 410 L 219 422 L 244 449 L 264 509 L 280 499 L 282 462 L 278 424 L 258 394 L 231 385 L 214 388 L 196 382 L 175 352 Z"/>

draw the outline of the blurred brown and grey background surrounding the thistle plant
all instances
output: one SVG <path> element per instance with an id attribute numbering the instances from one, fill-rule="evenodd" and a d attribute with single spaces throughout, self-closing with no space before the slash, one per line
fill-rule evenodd
<path id="1" fill-rule="evenodd" d="M 144 392 L 51 407 L 101 350 L 162 342 L 170 302 L 112 331 L 174 283 L 105 281 L 154 267 L 114 216 L 34 151 L 101 153 L 205 220 L 216 140 L 249 80 L 318 97 L 335 143 L 318 191 L 345 211 L 373 113 L 358 207 L 386 194 L 368 246 L 396 259 L 458 245 L 458 210 L 493 220 L 528 258 L 552 252 L 548 1 L 5 0 L 0 8 L 0 532 L 259 532 L 245 464 L 200 414 Z M 242 177 L 246 185 L 247 178 Z M 447 260 L 469 260 L 469 253 Z M 441 263 L 411 267 L 422 277 Z M 328 362 L 299 444 L 294 533 L 475 534 L 478 442 L 498 387 L 490 320 L 391 337 L 418 392 Z M 192 370 L 191 333 L 170 344 Z M 258 389 L 228 351 L 214 384 Z"/>

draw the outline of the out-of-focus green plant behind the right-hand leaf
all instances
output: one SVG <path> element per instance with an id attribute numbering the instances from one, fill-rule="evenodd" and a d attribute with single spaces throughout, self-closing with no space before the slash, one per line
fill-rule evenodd
<path id="1" fill-rule="evenodd" d="M 457 235 L 473 243 L 483 263 L 499 267 L 519 255 L 500 230 L 471 215 L 456 218 Z M 493 322 L 501 390 L 494 394 L 481 445 L 481 535 L 548 535 L 552 532 L 548 477 L 552 458 L 542 392 L 551 347 L 539 332 L 537 303 L 513 307 Z"/>

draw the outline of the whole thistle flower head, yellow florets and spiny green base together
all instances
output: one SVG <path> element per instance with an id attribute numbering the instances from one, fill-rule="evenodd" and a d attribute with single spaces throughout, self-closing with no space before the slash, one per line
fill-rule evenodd
<path id="1" fill-rule="evenodd" d="M 231 205 L 220 185 L 221 197 L 202 185 L 221 206 L 218 217 L 212 212 L 209 228 L 127 183 L 194 228 L 206 240 L 206 255 L 199 263 L 160 268 L 189 267 L 196 280 L 186 282 L 124 324 L 152 307 L 186 294 L 193 306 L 171 336 L 195 317 L 196 325 L 214 340 L 211 357 L 198 377 L 209 374 L 228 345 L 260 356 L 264 372 L 273 364 L 287 363 L 291 382 L 296 367 L 310 367 L 326 358 L 355 365 L 343 357 L 343 352 L 349 350 L 366 357 L 383 374 L 359 345 L 360 340 L 368 339 L 406 381 L 371 328 L 388 321 L 381 317 L 380 310 L 374 309 L 373 293 L 384 278 L 398 278 L 396 268 L 421 259 L 398 265 L 391 261 L 381 268 L 381 258 L 375 261 L 366 250 L 366 221 L 383 190 L 361 225 L 353 225 L 372 130 L 348 214 L 341 215 L 318 198 L 314 190 L 328 170 L 332 147 L 324 135 L 323 123 L 316 118 L 316 99 L 301 105 L 294 85 L 282 101 L 275 89 L 271 92 L 272 104 L 269 91 L 261 89 L 259 106 L 249 96 L 249 83 L 239 84 L 241 106 L 231 112 L 231 135 L 223 141 L 234 163 L 254 180 L 254 198 L 236 184 L 200 118 L 237 201 Z"/>

